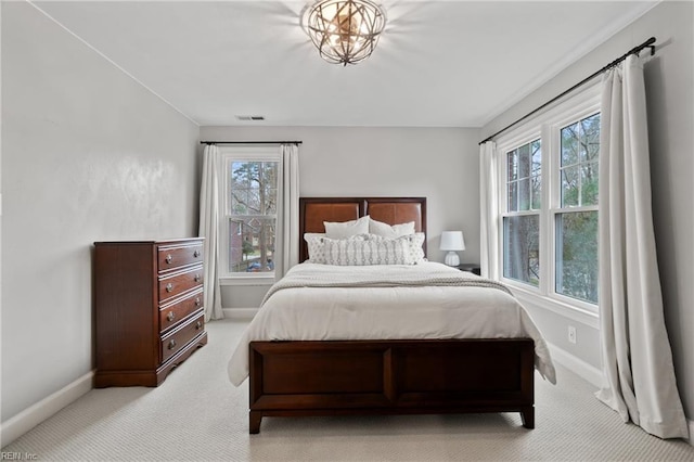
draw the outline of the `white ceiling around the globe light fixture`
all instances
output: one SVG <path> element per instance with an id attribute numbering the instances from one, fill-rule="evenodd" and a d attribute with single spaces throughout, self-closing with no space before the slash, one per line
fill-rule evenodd
<path id="1" fill-rule="evenodd" d="M 480 127 L 657 3 L 383 0 L 344 67 L 300 27 L 310 2 L 34 4 L 201 126 Z"/>

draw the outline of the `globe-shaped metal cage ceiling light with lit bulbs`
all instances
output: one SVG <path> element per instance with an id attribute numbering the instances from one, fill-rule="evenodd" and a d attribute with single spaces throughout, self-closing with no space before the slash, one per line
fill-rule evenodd
<path id="1" fill-rule="evenodd" d="M 308 8 L 304 23 L 321 57 L 346 66 L 373 53 L 386 15 L 370 0 L 319 0 Z"/>

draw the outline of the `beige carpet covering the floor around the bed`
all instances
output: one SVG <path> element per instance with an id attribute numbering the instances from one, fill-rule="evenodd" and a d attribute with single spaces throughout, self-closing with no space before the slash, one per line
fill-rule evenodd
<path id="1" fill-rule="evenodd" d="M 158 388 L 94 389 L 2 451 L 39 461 L 694 461 L 593 397 L 557 367 L 536 381 L 536 425 L 518 414 L 266 418 L 248 435 L 248 385 L 227 380 L 246 323 L 208 324 L 209 344 Z"/>

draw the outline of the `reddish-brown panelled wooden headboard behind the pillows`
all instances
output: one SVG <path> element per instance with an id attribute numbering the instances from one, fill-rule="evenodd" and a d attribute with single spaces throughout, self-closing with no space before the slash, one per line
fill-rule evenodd
<path id="1" fill-rule="evenodd" d="M 426 233 L 426 197 L 299 197 L 299 262 L 308 259 L 304 233 L 325 232 L 323 221 L 367 215 L 388 224 L 414 221 L 414 231 Z M 426 239 L 423 248 L 426 255 Z"/>

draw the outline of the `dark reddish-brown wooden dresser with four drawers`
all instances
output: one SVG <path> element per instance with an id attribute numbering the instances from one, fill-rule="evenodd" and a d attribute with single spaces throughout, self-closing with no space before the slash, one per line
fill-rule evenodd
<path id="1" fill-rule="evenodd" d="M 157 386 L 207 343 L 203 239 L 94 243 L 94 387 Z"/>

